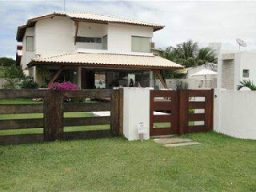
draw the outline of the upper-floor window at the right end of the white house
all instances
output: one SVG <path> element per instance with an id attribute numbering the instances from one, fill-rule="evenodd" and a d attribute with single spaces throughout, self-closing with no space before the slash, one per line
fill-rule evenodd
<path id="1" fill-rule="evenodd" d="M 146 37 L 131 37 L 131 51 L 150 53 L 150 39 Z"/>

